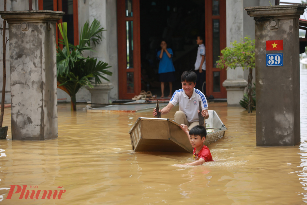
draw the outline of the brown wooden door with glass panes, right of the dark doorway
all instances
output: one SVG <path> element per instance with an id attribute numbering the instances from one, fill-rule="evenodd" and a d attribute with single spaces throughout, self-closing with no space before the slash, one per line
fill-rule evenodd
<path id="1" fill-rule="evenodd" d="M 226 70 L 216 68 L 220 51 L 226 47 L 226 0 L 205 0 L 206 95 L 227 98 L 222 86 Z"/>

